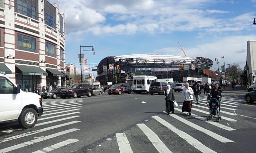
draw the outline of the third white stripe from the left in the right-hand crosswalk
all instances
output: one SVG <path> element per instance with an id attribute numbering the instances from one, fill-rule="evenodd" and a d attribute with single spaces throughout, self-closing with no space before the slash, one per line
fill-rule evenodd
<path id="1" fill-rule="evenodd" d="M 194 148 L 198 149 L 202 153 L 216 153 L 215 151 L 213 151 L 213 150 L 209 149 L 208 147 L 206 147 L 205 145 L 203 145 L 197 139 L 195 139 L 192 136 L 190 136 L 189 134 L 187 134 L 187 133 L 177 129 L 175 126 L 173 126 L 170 123 L 166 122 L 162 118 L 160 118 L 158 116 L 153 116 L 153 118 L 155 120 L 157 120 L 159 123 L 161 123 L 162 125 L 164 125 L 165 127 L 167 127 L 172 132 L 176 133 L 178 136 L 180 136 L 182 139 L 187 141 L 189 144 L 191 144 Z"/>

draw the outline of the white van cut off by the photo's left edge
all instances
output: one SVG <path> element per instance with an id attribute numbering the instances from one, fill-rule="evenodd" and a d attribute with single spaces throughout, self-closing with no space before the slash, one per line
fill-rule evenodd
<path id="1" fill-rule="evenodd" d="M 22 127 L 30 128 L 42 114 L 42 99 L 38 94 L 23 92 L 19 85 L 0 74 L 0 123 L 18 120 Z"/>

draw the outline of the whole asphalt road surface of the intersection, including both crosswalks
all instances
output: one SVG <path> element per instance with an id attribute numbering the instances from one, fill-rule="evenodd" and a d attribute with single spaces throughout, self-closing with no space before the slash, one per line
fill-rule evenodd
<path id="1" fill-rule="evenodd" d="M 35 127 L 0 124 L 2 152 L 254 152 L 256 103 L 243 93 L 223 93 L 219 123 L 207 122 L 205 95 L 192 116 L 166 115 L 163 95 L 123 94 L 47 99 Z M 175 93 L 182 105 L 181 93 Z M 146 103 L 142 103 L 145 101 Z"/>

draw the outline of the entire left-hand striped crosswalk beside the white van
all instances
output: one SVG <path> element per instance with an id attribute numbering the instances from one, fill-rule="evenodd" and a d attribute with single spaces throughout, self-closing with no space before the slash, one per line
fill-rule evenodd
<path id="1" fill-rule="evenodd" d="M 81 113 L 82 101 L 82 99 L 43 100 L 43 115 L 38 117 L 38 122 L 33 128 L 10 128 L 0 131 L 0 153 L 22 152 L 19 151 L 19 149 L 24 149 L 29 146 L 38 147 L 30 152 L 45 153 L 78 142 L 79 140 L 70 137 L 56 142 L 55 138 L 80 130 L 78 128 L 72 128 L 72 125 L 81 122 L 79 120 L 79 117 L 81 117 L 79 114 Z M 42 136 L 43 134 L 44 136 Z M 54 140 L 54 143 L 52 143 L 52 140 Z M 41 145 L 34 145 L 42 141 L 44 143 L 47 143 L 47 141 L 51 142 L 47 143 L 50 145 L 45 148 L 40 148 Z"/>

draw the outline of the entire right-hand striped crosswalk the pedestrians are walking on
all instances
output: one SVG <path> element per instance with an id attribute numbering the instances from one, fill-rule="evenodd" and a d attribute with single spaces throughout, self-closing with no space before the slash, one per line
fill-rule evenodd
<path id="1" fill-rule="evenodd" d="M 207 98 L 205 95 L 201 95 L 199 104 L 196 104 L 196 100 L 193 101 L 191 117 L 185 115 L 187 112 L 182 113 L 182 102 L 178 102 L 180 105 L 175 107 L 175 114 L 170 114 L 169 117 L 166 115 L 152 116 L 152 120 L 149 121 L 150 123 L 144 121 L 143 123 L 136 124 L 136 127 L 131 131 L 127 130 L 123 133 L 116 133 L 115 138 L 109 141 L 113 141 L 112 143 L 118 145 L 118 151 L 120 153 L 140 152 L 133 141 L 134 137 L 142 139 L 144 135 L 147 140 L 143 140 L 143 142 L 149 142 L 156 151 L 153 151 L 151 148 L 151 150 L 143 150 L 143 152 L 179 152 L 176 149 L 172 149 L 174 146 L 167 145 L 166 140 L 161 140 L 164 139 L 166 135 L 162 136 L 162 132 L 160 131 L 167 131 L 166 129 L 168 129 L 170 132 L 176 134 L 180 139 L 183 139 L 188 146 L 196 149 L 198 152 L 216 153 L 219 152 L 219 150 L 215 150 L 215 147 L 209 145 L 207 140 L 203 139 L 206 137 L 210 138 L 211 141 L 215 140 L 216 144 L 236 143 L 233 140 L 234 137 L 232 134 L 234 134 L 238 129 L 235 129 L 236 126 L 230 126 L 230 124 L 233 125 L 232 123 L 237 122 L 236 116 L 238 116 L 238 114 L 236 114 L 236 110 L 240 107 L 239 101 L 244 101 L 239 97 L 239 95 L 229 96 L 228 94 L 223 94 L 220 109 L 222 120 L 220 122 L 207 121 L 209 108 L 207 107 Z M 162 127 L 156 127 L 157 123 L 162 125 Z M 195 138 L 193 134 L 188 132 L 188 130 L 184 131 L 184 127 L 186 127 L 186 129 L 191 129 L 194 133 L 200 135 L 200 140 Z M 225 134 L 225 136 L 222 135 L 223 132 L 221 130 L 224 130 L 227 134 Z M 117 150 L 113 152 L 117 152 Z M 225 151 L 223 150 L 223 152 Z"/>

